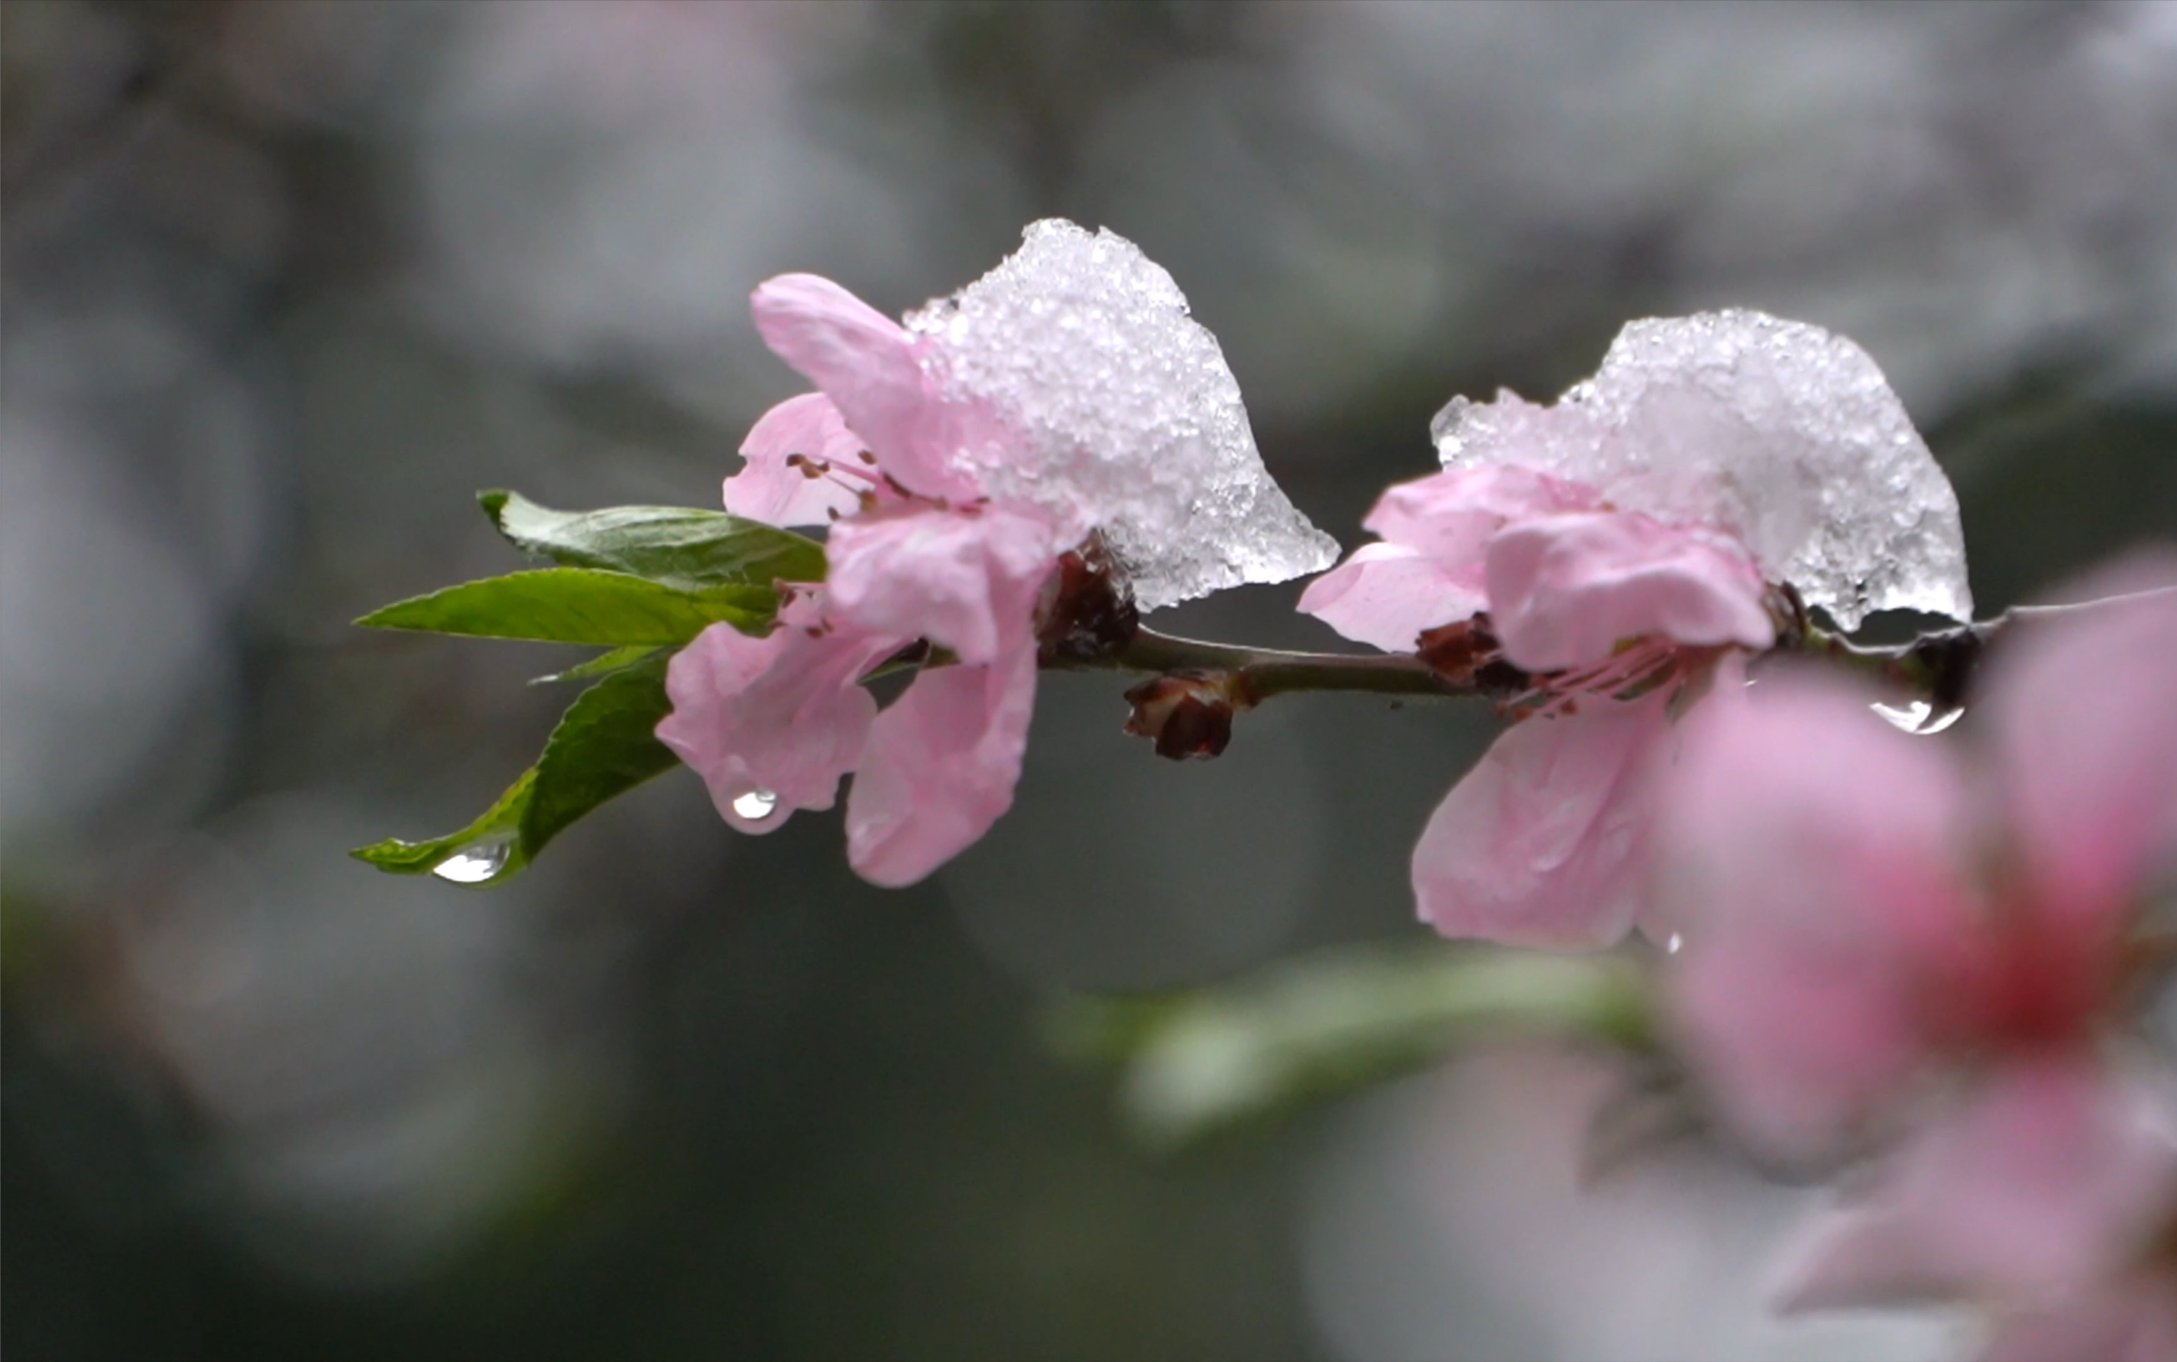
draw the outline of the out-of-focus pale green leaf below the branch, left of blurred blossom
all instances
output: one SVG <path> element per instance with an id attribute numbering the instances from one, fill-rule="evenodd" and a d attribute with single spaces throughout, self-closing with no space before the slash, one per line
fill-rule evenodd
<path id="1" fill-rule="evenodd" d="M 1054 1042 L 1121 1063 L 1130 1133 L 1176 1148 L 1378 1083 L 1489 1035 L 1650 1044 L 1650 989 L 1622 957 L 1345 948 L 1230 985 L 1069 998 Z"/>

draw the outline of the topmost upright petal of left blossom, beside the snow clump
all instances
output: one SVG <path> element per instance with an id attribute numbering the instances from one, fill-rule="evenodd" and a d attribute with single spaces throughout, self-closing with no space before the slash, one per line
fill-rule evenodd
<path id="1" fill-rule="evenodd" d="M 823 388 L 893 479 L 925 497 L 975 495 L 947 464 L 947 412 L 899 323 L 816 275 L 766 279 L 751 312 L 764 344 Z"/>

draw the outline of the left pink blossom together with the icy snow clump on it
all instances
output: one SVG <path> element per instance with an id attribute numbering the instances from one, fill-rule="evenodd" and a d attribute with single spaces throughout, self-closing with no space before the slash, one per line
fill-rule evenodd
<path id="1" fill-rule="evenodd" d="M 812 275 L 755 290 L 764 342 L 819 392 L 755 423 L 725 506 L 832 523 L 827 577 L 773 634 L 714 625 L 666 678 L 657 737 L 729 824 L 829 808 L 853 771 L 847 854 L 880 885 L 923 878 L 1012 804 L 1038 599 L 1091 534 L 1143 608 L 1337 556 L 1263 469 L 1217 340 L 1171 277 L 1108 231 L 1047 220 L 1023 235 L 906 327 Z M 862 678 L 923 641 L 958 662 L 880 713 Z"/>

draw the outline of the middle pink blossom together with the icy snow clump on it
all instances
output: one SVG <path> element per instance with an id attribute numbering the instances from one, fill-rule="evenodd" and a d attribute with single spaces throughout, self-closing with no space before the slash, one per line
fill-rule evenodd
<path id="1" fill-rule="evenodd" d="M 1774 586 L 1846 628 L 1972 610 L 1948 479 L 1874 362 L 1820 327 L 1631 323 L 1557 405 L 1454 401 L 1435 436 L 1443 471 L 1385 492 L 1365 521 L 1382 540 L 1300 608 L 1533 678 L 1511 704 L 1526 721 L 1413 854 L 1448 935 L 1607 946 L 1633 926 L 1672 708 L 1776 641 Z"/>

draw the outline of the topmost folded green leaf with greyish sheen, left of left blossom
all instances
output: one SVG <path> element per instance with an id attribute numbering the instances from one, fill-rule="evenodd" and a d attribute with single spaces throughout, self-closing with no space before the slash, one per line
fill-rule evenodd
<path id="1" fill-rule="evenodd" d="M 668 586 L 771 586 L 823 582 L 823 545 L 718 510 L 684 506 L 612 506 L 551 510 L 520 492 L 479 492 L 514 547 L 564 567 L 601 567 Z"/>

